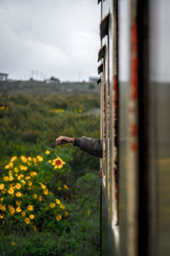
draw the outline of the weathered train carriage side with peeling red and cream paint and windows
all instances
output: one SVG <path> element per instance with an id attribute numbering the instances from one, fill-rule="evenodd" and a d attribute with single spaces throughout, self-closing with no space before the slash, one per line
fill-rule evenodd
<path id="1" fill-rule="evenodd" d="M 98 0 L 101 255 L 170 255 L 166 0 Z"/>

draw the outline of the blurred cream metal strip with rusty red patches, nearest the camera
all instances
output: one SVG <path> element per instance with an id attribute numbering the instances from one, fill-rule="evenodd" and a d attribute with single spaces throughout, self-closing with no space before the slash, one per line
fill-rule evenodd
<path id="1" fill-rule="evenodd" d="M 137 0 L 131 0 L 131 82 L 127 143 L 127 253 L 138 255 L 139 140 Z"/>

